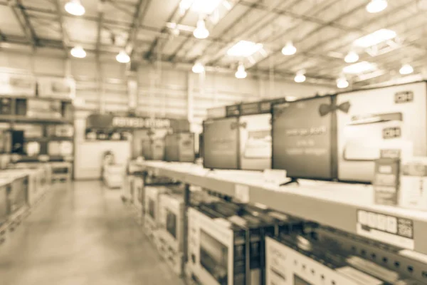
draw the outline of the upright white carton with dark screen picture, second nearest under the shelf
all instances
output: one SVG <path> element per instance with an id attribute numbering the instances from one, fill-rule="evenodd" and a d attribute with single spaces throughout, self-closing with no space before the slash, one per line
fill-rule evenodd
<path id="1" fill-rule="evenodd" d="M 279 229 L 302 229 L 295 219 L 248 212 L 225 202 L 190 208 L 187 267 L 204 285 L 264 284 L 264 239 Z M 288 219 L 288 220 L 287 220 Z"/>

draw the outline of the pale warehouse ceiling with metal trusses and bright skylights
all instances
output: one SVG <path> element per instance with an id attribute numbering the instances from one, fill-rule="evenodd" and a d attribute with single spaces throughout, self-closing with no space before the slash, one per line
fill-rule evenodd
<path id="1" fill-rule="evenodd" d="M 67 2 L 0 0 L 1 48 L 58 48 L 68 56 L 83 46 L 112 58 L 125 49 L 134 63 L 200 62 L 208 71 L 235 71 L 243 63 L 252 74 L 293 80 L 305 73 L 307 83 L 335 85 L 345 77 L 353 88 L 401 78 L 405 63 L 426 74 L 426 0 L 389 0 L 375 14 L 362 0 L 81 0 L 83 16 L 68 14 Z M 193 35 L 198 20 L 210 32 L 206 39 Z M 381 41 L 384 35 L 376 33 L 371 38 L 380 43 L 356 44 L 380 29 L 391 30 L 391 37 Z M 250 56 L 230 56 L 238 41 L 258 45 Z M 289 41 L 297 51 L 285 56 Z M 343 72 L 354 64 L 344 61 L 350 51 L 367 71 Z"/>

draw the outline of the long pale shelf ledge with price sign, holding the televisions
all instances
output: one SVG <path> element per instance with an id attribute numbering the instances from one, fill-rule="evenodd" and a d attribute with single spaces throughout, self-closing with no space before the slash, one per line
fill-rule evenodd
<path id="1" fill-rule="evenodd" d="M 368 185 L 301 180 L 299 186 L 279 187 L 265 182 L 261 172 L 211 171 L 198 165 L 160 161 L 144 161 L 140 165 L 155 176 L 170 177 L 223 195 L 238 195 L 246 202 L 427 254 L 427 212 L 376 205 L 374 190 Z M 364 217 L 370 220 L 365 223 Z M 405 226 L 407 236 L 376 229 L 382 223 L 380 219 L 396 231 Z"/>

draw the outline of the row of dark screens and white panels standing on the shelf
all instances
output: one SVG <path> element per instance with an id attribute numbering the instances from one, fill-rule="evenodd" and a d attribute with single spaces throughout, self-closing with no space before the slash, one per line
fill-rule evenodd
<path id="1" fill-rule="evenodd" d="M 425 82 L 227 106 L 203 123 L 204 167 L 371 182 L 382 149 L 427 155 Z"/>

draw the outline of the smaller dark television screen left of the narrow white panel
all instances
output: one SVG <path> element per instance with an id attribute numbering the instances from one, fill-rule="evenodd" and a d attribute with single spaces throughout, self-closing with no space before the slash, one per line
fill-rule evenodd
<path id="1" fill-rule="evenodd" d="M 238 118 L 205 120 L 203 137 L 205 168 L 238 169 Z"/>

